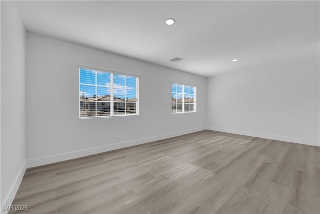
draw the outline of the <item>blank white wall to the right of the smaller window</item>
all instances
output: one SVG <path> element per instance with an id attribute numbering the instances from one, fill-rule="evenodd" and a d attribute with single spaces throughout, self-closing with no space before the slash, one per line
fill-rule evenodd
<path id="1" fill-rule="evenodd" d="M 208 78 L 208 129 L 319 146 L 318 44 L 314 47 L 316 54 Z"/>

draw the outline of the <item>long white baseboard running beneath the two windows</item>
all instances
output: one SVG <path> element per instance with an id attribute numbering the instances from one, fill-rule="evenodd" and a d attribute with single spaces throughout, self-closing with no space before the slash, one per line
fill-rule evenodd
<path id="1" fill-rule="evenodd" d="M 206 129 L 206 127 L 188 129 L 188 130 L 183 130 L 183 131 L 178 131 L 178 132 L 173 132 L 173 133 L 168 133 L 168 134 L 161 134 L 161 135 L 157 135 L 157 136 L 146 137 L 146 138 L 126 141 L 126 142 L 119 142 L 119 143 L 115 143 L 115 144 L 104 145 L 104 146 L 99 146 L 99 147 L 94 147 L 94 148 L 88 148 L 88 149 L 71 151 L 71 152 L 55 154 L 55 155 L 50 155 L 50 156 L 45 156 L 45 157 L 28 159 L 28 160 L 26 160 L 26 166 L 27 166 L 27 168 L 30 168 L 30 167 L 55 163 L 55 162 L 59 162 L 59 161 L 63 161 L 63 160 L 69 160 L 69 159 L 73 159 L 73 158 L 83 157 L 83 156 L 87 156 L 87 155 L 97 154 L 97 153 L 101 153 L 101 152 L 106 152 L 106 151 L 111 151 L 111 150 L 115 150 L 115 149 L 129 147 L 129 146 L 135 146 L 135 145 L 148 143 L 148 142 L 152 142 L 152 141 L 156 141 L 156 140 L 162 140 L 165 138 L 176 137 L 179 135 L 189 134 L 192 132 L 202 131 L 205 129 Z"/>

